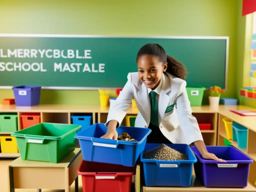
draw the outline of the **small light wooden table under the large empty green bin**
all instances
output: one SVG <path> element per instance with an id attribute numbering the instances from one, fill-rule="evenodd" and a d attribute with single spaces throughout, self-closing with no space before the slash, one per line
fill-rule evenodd
<path id="1" fill-rule="evenodd" d="M 8 166 L 9 192 L 15 189 L 65 189 L 70 192 L 74 180 L 78 192 L 77 169 L 82 159 L 80 148 L 59 163 L 27 161 L 19 157 Z"/>

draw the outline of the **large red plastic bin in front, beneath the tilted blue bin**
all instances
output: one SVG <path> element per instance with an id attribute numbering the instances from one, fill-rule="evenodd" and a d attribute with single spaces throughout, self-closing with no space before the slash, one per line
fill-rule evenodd
<path id="1" fill-rule="evenodd" d="M 83 192 L 130 192 L 135 168 L 83 160 L 77 174 L 82 176 Z"/>

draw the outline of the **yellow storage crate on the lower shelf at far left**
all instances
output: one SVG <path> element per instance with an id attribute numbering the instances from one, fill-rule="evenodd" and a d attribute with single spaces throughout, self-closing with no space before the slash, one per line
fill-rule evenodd
<path id="1" fill-rule="evenodd" d="M 1 135 L 0 136 L 1 153 L 18 153 L 18 147 L 15 137 Z"/>

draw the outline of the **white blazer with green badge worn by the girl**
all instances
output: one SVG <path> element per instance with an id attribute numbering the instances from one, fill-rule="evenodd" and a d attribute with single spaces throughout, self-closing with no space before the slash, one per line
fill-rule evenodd
<path id="1" fill-rule="evenodd" d="M 138 72 L 129 73 L 127 79 L 118 98 L 110 106 L 105 125 L 108 126 L 109 121 L 116 120 L 120 126 L 134 98 L 139 110 L 135 127 L 147 128 L 151 113 L 147 88 L 138 78 Z M 186 81 L 170 73 L 163 73 L 158 101 L 158 122 L 159 129 L 170 142 L 190 145 L 195 141 L 203 141 L 203 138 L 197 120 L 192 115 L 186 84 Z"/>

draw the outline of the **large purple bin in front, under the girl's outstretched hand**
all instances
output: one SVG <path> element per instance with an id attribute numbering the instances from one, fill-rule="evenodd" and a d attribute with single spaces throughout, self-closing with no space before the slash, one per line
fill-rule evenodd
<path id="1" fill-rule="evenodd" d="M 249 167 L 253 160 L 233 146 L 207 146 L 209 153 L 226 160 L 219 162 L 202 158 L 195 146 L 191 146 L 197 157 L 194 163 L 196 178 L 205 187 L 243 188 L 248 184 Z"/>

